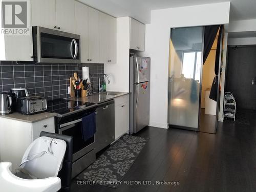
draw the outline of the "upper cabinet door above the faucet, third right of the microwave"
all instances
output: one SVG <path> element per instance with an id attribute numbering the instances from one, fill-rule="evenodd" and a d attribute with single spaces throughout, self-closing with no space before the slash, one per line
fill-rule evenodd
<path id="1" fill-rule="evenodd" d="M 116 63 L 116 18 L 99 12 L 100 62 Z"/>

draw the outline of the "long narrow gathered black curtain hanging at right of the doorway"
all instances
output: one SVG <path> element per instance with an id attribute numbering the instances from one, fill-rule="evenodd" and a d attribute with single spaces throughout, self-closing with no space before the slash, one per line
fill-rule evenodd
<path id="1" fill-rule="evenodd" d="M 223 25 L 220 26 L 220 32 L 218 36 L 218 44 L 216 49 L 216 56 L 215 56 L 215 78 L 212 81 L 210 95 L 209 98 L 212 100 L 217 101 L 218 96 L 218 75 L 219 75 L 219 61 L 220 61 L 220 47 L 221 47 L 221 34 L 222 34 Z"/>

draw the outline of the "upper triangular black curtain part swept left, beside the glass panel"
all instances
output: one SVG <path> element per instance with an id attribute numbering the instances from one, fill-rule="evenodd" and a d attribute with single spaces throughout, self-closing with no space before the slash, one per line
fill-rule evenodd
<path id="1" fill-rule="evenodd" d="M 214 40 L 218 33 L 220 25 L 212 25 L 204 27 L 204 57 L 203 57 L 203 65 L 210 53 L 211 47 L 214 44 Z"/>

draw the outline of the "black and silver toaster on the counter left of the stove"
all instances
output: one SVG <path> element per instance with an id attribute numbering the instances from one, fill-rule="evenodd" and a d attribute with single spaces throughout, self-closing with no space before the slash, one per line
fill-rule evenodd
<path id="1" fill-rule="evenodd" d="M 47 100 L 39 96 L 19 97 L 16 110 L 24 115 L 42 113 L 47 111 Z"/>

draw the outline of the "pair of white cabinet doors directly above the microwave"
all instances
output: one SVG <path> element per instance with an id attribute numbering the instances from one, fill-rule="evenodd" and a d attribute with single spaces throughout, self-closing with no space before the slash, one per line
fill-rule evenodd
<path id="1" fill-rule="evenodd" d="M 31 1 L 32 26 L 46 27 L 69 33 L 75 32 L 73 0 Z"/>

